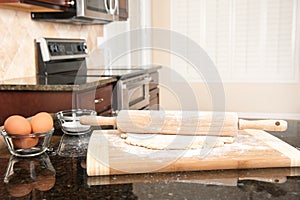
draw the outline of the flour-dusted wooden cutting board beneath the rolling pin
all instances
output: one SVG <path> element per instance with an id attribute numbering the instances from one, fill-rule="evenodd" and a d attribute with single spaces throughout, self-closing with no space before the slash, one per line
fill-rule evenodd
<path id="1" fill-rule="evenodd" d="M 300 151 L 260 130 L 240 130 L 233 144 L 194 150 L 150 150 L 126 144 L 119 134 L 96 130 L 86 162 L 89 176 L 296 167 Z"/>

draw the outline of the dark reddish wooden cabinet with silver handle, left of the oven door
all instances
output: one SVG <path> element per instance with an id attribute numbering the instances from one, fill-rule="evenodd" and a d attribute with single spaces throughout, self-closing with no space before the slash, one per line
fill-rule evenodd
<path id="1" fill-rule="evenodd" d="M 80 91 L 76 95 L 76 106 L 95 110 L 98 115 L 110 115 L 112 113 L 112 92 L 112 84 Z"/>

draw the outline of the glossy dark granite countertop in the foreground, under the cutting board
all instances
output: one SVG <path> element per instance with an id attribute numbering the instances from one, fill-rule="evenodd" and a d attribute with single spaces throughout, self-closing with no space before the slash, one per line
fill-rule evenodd
<path id="1" fill-rule="evenodd" d="M 289 122 L 287 131 L 272 134 L 300 147 L 297 121 Z M 0 198 L 300 199 L 300 168 L 89 177 L 85 155 L 90 135 L 67 136 L 57 129 L 49 151 L 34 158 L 16 158 L 0 148 Z"/>

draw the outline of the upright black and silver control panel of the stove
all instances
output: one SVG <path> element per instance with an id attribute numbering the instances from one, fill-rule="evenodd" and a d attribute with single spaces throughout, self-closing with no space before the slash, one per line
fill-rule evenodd
<path id="1" fill-rule="evenodd" d="M 86 82 L 88 50 L 84 39 L 38 38 L 35 43 L 39 84 Z"/>

